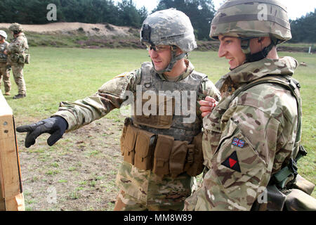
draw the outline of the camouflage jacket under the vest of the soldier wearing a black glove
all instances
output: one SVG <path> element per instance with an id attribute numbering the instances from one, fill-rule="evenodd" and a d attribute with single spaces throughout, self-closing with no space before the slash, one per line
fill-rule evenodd
<path id="1" fill-rule="evenodd" d="M 186 60 L 185 62 L 187 64 L 187 70 L 182 75 L 180 75 L 177 82 L 184 80 L 190 82 L 190 80 L 199 78 L 199 93 L 197 96 L 213 96 L 219 100 L 220 94 L 218 89 L 216 89 L 214 84 L 206 77 L 206 75 L 197 75 L 198 73 L 195 72 L 194 67 L 190 61 Z M 83 100 L 75 101 L 74 103 L 60 103 L 59 111 L 54 115 L 59 115 L 67 120 L 67 131 L 78 129 L 85 124 L 93 122 L 93 120 L 98 120 L 101 117 L 107 115 L 107 113 L 109 113 L 114 108 L 120 108 L 124 101 L 122 96 L 126 94 L 126 91 L 135 93 L 137 85 L 142 84 L 143 86 L 147 86 L 147 83 L 144 82 L 144 79 L 147 79 L 150 76 L 156 76 L 154 80 L 160 79 L 168 83 L 168 80 L 166 80 L 164 75 L 157 74 L 152 69 L 148 70 L 148 66 L 152 68 L 152 63 L 143 63 L 142 68 L 138 70 L 123 73 L 117 77 L 114 77 L 114 79 L 111 79 L 109 82 L 103 84 L 103 86 L 101 86 L 98 92 L 93 96 L 89 96 Z M 187 79 L 189 76 L 190 79 Z M 159 82 L 159 84 L 164 82 Z M 155 84 L 152 84 L 152 86 L 157 87 Z M 166 84 L 166 86 L 168 85 Z M 162 89 L 164 88 L 165 86 L 162 86 Z M 199 109 L 199 106 L 197 106 L 197 109 Z M 198 112 L 197 114 L 199 119 L 196 120 L 195 123 L 199 123 L 199 129 L 201 131 L 201 112 Z M 144 129 L 146 128 L 144 127 Z M 153 129 L 147 130 L 154 132 Z M 177 139 L 176 135 L 178 134 L 175 134 L 175 140 Z M 178 138 L 180 139 L 181 137 Z M 186 139 L 187 137 L 185 136 L 182 138 Z M 184 201 L 185 198 L 187 198 L 187 196 L 189 196 L 191 193 L 191 184 L 191 177 L 187 174 L 181 174 L 180 176 L 176 177 L 176 179 L 171 178 L 171 176 L 164 176 L 164 179 L 162 179 L 160 176 L 152 173 L 150 169 L 138 169 L 137 167 L 134 167 L 125 161 L 121 164 L 119 173 L 117 175 L 117 185 L 123 191 L 134 198 L 147 203 L 150 201 L 153 203 L 159 201 L 158 195 L 172 195 L 170 198 L 164 198 L 169 199 L 171 203 L 175 198 L 180 201 Z"/>

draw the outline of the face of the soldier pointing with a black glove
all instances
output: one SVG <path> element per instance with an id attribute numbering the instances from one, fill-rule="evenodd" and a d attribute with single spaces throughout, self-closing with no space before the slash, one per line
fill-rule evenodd
<path id="1" fill-rule="evenodd" d="M 157 46 L 156 50 L 148 49 L 152 63 L 154 63 L 154 69 L 157 71 L 164 70 L 171 60 L 171 46 Z"/>

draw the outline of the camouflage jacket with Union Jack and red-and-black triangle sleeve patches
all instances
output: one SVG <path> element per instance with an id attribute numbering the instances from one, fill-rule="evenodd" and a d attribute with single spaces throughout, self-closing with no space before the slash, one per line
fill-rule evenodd
<path id="1" fill-rule="evenodd" d="M 298 109 L 291 91 L 277 84 L 258 84 L 235 99 L 232 93 L 265 75 L 291 76 L 297 65 L 291 57 L 265 58 L 239 66 L 216 84 L 222 100 L 203 120 L 209 171 L 185 200 L 185 210 L 251 210 L 293 154 Z"/>

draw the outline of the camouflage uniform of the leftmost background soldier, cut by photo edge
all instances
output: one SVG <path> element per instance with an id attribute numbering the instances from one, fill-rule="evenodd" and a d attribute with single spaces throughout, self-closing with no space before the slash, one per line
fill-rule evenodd
<path id="1" fill-rule="evenodd" d="M 11 82 L 10 82 L 10 71 L 8 70 L 7 65 L 7 56 L 4 54 L 4 50 L 8 46 L 8 41 L 4 41 L 4 43 L 0 44 L 0 84 L 1 84 L 1 77 L 4 80 L 4 90 L 6 93 L 11 91 Z"/>

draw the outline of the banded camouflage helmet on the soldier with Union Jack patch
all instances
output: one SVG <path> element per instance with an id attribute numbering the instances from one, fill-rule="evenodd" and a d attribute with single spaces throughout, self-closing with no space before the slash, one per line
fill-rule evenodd
<path id="1" fill-rule="evenodd" d="M 218 8 L 210 37 L 270 37 L 275 44 L 291 39 L 287 8 L 278 0 L 228 0 Z"/>

